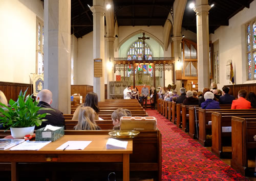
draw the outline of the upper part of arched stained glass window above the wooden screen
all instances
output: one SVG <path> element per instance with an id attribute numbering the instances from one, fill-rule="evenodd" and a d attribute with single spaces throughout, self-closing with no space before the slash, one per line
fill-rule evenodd
<path id="1" fill-rule="evenodd" d="M 145 60 L 152 60 L 152 51 L 145 43 Z M 127 51 L 127 60 L 142 60 L 143 59 L 143 41 L 137 40 Z"/>

